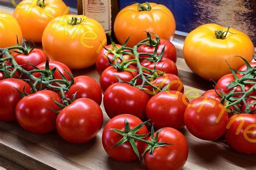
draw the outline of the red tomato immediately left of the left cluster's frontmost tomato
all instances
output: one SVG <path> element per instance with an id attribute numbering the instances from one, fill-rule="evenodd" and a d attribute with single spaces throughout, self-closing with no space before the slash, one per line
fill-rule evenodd
<path id="1" fill-rule="evenodd" d="M 59 102 L 57 93 L 50 90 L 37 91 L 25 96 L 16 106 L 16 117 L 19 125 L 31 133 L 48 133 L 56 128 L 57 113 L 60 110 L 53 100 Z"/>

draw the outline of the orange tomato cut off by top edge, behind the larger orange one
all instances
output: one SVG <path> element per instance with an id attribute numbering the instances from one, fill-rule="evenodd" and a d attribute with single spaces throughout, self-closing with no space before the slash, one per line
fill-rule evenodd
<path id="1" fill-rule="evenodd" d="M 69 7 L 62 0 L 23 0 L 12 14 L 21 25 L 23 38 L 42 42 L 46 25 L 55 17 L 69 14 Z"/>

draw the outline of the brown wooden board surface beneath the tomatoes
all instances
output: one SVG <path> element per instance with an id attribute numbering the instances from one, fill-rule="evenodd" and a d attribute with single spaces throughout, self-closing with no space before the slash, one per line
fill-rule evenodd
<path id="1" fill-rule="evenodd" d="M 177 46 L 177 66 L 185 90 L 195 89 L 202 94 L 211 89 L 212 82 L 201 79 L 186 66 L 181 48 Z M 95 67 L 74 70 L 73 74 L 88 75 L 99 81 Z M 103 104 L 100 107 L 105 125 L 109 117 Z M 109 158 L 102 146 L 102 130 L 88 143 L 71 144 L 60 138 L 56 131 L 32 134 L 18 123 L 0 123 L 0 166 L 6 168 L 10 165 L 8 169 L 146 169 L 139 161 L 118 162 Z M 234 152 L 224 139 L 205 141 L 193 137 L 186 128 L 181 132 L 189 144 L 188 160 L 183 169 L 256 169 L 255 154 Z M 14 167 L 12 162 L 16 164 Z"/>

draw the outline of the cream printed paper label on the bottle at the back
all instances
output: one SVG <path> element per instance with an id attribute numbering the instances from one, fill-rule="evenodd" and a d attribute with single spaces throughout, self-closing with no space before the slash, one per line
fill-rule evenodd
<path id="1" fill-rule="evenodd" d="M 105 32 L 111 31 L 111 0 L 84 0 L 83 15 L 97 20 Z"/>

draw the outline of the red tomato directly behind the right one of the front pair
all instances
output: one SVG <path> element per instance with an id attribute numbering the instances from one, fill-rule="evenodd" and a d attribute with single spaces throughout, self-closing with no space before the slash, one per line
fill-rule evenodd
<path id="1" fill-rule="evenodd" d="M 188 103 L 187 97 L 179 91 L 161 91 L 147 103 L 147 118 L 156 129 L 181 129 L 185 125 L 184 111 Z"/>

